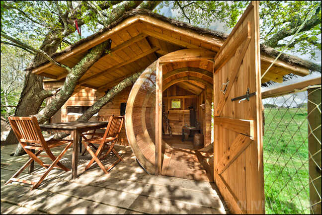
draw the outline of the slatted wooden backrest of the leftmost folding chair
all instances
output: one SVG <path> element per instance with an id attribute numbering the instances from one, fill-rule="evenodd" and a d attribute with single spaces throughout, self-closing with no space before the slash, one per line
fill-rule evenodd
<path id="1" fill-rule="evenodd" d="M 35 116 L 8 117 L 12 130 L 20 143 L 44 143 L 43 135 Z M 45 147 L 47 145 L 44 145 Z"/>

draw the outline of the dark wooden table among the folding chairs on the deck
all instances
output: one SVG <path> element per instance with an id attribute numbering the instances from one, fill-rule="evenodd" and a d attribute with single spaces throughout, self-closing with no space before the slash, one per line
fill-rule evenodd
<path id="1" fill-rule="evenodd" d="M 66 122 L 66 123 L 50 123 L 40 124 L 39 127 L 42 131 L 68 131 L 73 136 L 73 158 L 72 158 L 72 179 L 77 178 L 77 164 L 79 157 L 79 142 L 80 134 L 93 129 L 100 129 L 106 127 L 108 122 Z"/>

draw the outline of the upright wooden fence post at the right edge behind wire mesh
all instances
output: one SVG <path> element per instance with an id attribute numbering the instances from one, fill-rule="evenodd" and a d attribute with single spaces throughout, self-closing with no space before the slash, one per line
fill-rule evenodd
<path id="1" fill-rule="evenodd" d="M 308 89 L 308 124 L 310 212 L 321 214 L 321 85 Z"/>

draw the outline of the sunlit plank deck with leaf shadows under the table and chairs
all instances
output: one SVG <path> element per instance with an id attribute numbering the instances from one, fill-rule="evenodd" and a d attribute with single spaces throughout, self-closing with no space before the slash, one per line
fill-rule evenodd
<path id="1" fill-rule="evenodd" d="M 116 146 L 124 162 L 106 175 L 94 165 L 83 172 L 91 158 L 80 155 L 79 177 L 71 171 L 52 170 L 42 184 L 4 183 L 28 159 L 12 157 L 15 145 L 1 146 L 1 214 L 226 214 L 214 183 L 147 174 L 136 162 L 129 146 Z M 62 158 L 71 167 L 72 149 Z M 115 158 L 106 158 L 104 165 Z M 39 178 L 44 168 L 35 164 L 25 179 Z"/>

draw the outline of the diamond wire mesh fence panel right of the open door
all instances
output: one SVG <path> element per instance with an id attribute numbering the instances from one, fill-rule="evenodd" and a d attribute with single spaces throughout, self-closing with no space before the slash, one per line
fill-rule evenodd
<path id="1" fill-rule="evenodd" d="M 262 103 L 266 214 L 321 212 L 321 85 Z"/>

